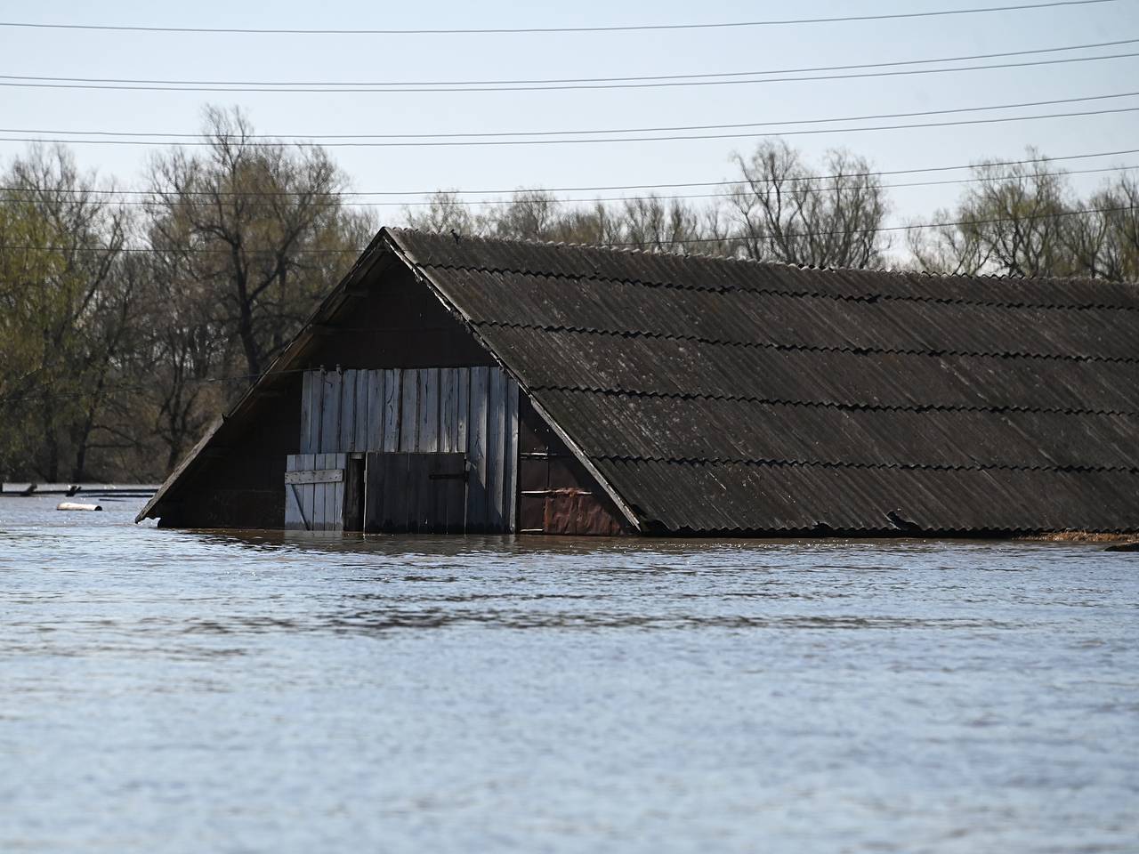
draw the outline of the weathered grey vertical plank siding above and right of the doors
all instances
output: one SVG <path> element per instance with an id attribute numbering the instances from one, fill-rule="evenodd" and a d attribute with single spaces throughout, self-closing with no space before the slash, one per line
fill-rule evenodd
<path id="1" fill-rule="evenodd" d="M 499 368 L 306 371 L 300 450 L 466 453 L 466 529 L 515 529 L 518 384 Z"/>

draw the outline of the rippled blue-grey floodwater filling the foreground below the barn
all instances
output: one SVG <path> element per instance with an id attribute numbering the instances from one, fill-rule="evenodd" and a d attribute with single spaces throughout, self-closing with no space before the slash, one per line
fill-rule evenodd
<path id="1" fill-rule="evenodd" d="M 1136 851 L 1139 557 L 0 500 L 0 851 Z"/>

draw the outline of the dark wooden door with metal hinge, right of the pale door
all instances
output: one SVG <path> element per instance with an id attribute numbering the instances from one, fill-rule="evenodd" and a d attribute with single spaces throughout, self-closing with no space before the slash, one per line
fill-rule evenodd
<path id="1" fill-rule="evenodd" d="M 366 532 L 461 534 L 466 531 L 465 453 L 369 453 Z"/>

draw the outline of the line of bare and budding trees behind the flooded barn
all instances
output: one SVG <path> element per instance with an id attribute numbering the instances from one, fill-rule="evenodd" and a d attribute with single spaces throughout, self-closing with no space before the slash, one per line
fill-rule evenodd
<path id="1" fill-rule="evenodd" d="M 205 142 L 154 155 L 145 184 L 33 147 L 0 173 L 0 479 L 161 479 L 287 345 L 378 227 L 317 146 L 207 108 Z M 784 141 L 734 159 L 711 198 L 581 203 L 440 191 L 404 224 L 514 239 L 818 266 L 1139 280 L 1139 182 L 1081 197 L 1038 153 L 973 167 L 935 227 L 887 227 L 888 186 L 845 150 Z"/>

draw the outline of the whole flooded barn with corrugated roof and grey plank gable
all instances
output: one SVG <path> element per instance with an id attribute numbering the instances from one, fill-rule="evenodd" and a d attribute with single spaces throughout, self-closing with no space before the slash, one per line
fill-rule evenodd
<path id="1" fill-rule="evenodd" d="M 1139 288 L 383 229 L 139 520 L 1139 529 Z"/>

